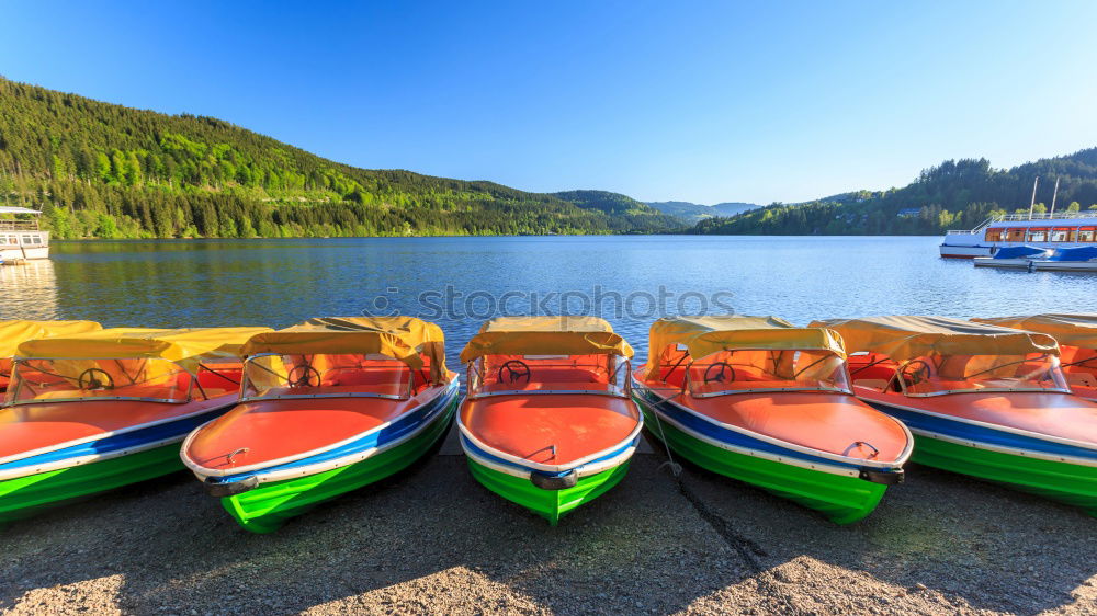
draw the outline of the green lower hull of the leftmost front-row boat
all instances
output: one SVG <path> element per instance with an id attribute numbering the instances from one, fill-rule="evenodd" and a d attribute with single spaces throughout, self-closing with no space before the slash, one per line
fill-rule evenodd
<path id="1" fill-rule="evenodd" d="M 183 470 L 179 444 L 0 481 L 0 524 Z"/>

